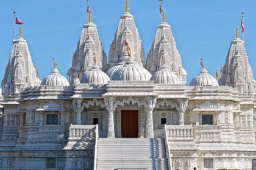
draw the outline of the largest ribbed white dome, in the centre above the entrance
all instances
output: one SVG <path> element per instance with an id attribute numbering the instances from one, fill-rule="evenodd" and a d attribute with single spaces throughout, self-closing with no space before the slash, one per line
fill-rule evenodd
<path id="1" fill-rule="evenodd" d="M 110 80 L 149 81 L 151 78 L 151 73 L 144 69 L 144 67 L 138 66 L 134 59 L 129 59 L 123 66 L 115 67 L 113 67 Z"/>

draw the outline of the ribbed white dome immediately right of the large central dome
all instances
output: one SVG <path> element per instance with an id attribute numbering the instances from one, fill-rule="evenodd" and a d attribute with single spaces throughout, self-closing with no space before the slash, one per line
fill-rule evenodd
<path id="1" fill-rule="evenodd" d="M 156 84 L 180 84 L 177 75 L 168 68 L 158 70 L 151 80 Z"/>

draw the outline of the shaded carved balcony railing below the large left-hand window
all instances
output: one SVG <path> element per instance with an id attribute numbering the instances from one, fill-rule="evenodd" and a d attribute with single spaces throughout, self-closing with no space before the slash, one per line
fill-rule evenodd
<path id="1" fill-rule="evenodd" d="M 38 138 L 40 140 L 64 140 L 65 126 L 39 126 Z"/>

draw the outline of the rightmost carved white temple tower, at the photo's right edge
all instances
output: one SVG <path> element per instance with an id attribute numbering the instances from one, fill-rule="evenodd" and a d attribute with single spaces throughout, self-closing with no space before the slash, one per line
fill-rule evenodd
<path id="1" fill-rule="evenodd" d="M 231 41 L 222 76 L 219 80 L 222 86 L 237 87 L 244 95 L 255 94 L 256 82 L 249 64 L 244 41 L 239 38 L 236 27 L 235 39 Z"/>

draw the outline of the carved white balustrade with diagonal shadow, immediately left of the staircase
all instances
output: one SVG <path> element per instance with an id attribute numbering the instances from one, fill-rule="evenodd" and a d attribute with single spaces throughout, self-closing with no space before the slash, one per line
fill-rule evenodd
<path id="1" fill-rule="evenodd" d="M 68 144 L 65 150 L 94 150 L 96 125 L 72 125 L 69 127 Z"/>

